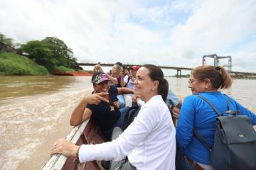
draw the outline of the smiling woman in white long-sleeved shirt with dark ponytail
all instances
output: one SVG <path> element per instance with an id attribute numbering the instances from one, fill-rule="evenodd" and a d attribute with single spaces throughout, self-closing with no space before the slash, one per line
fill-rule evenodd
<path id="1" fill-rule="evenodd" d="M 151 64 L 141 67 L 136 77 L 134 91 L 142 96 L 145 104 L 116 140 L 81 146 L 69 140 L 57 140 L 51 154 L 77 156 L 80 162 L 122 160 L 120 169 L 175 169 L 176 132 L 164 102 L 169 84 L 161 69 Z"/>

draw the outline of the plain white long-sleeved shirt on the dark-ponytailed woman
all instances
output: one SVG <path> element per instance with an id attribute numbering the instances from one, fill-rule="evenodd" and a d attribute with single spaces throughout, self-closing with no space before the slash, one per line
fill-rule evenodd
<path id="1" fill-rule="evenodd" d="M 82 145 L 80 162 L 91 160 L 118 161 L 128 155 L 129 162 L 139 169 L 175 169 L 174 123 L 160 95 L 142 106 L 139 114 L 117 140 L 99 145 Z"/>

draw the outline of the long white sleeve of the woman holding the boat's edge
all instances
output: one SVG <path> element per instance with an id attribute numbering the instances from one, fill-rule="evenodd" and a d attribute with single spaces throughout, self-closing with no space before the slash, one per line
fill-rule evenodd
<path id="1" fill-rule="evenodd" d="M 157 120 L 151 109 L 142 108 L 131 125 L 112 142 L 98 145 L 82 145 L 79 150 L 80 162 L 92 160 L 122 160 L 137 147 L 139 142 L 149 135 Z"/>

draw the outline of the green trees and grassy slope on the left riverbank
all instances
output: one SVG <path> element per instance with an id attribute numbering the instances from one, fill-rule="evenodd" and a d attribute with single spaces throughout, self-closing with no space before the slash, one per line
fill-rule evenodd
<path id="1" fill-rule="evenodd" d="M 0 33 L 1 45 L 14 46 L 11 38 Z M 0 74 L 45 75 L 53 74 L 55 68 L 67 70 L 82 69 L 77 59 L 63 40 L 47 37 L 44 40 L 31 40 L 19 45 L 15 52 L 3 52 L 0 45 Z"/>

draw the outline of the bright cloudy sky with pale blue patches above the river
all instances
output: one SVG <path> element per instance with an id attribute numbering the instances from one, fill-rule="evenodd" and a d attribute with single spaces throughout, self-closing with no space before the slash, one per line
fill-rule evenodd
<path id="1" fill-rule="evenodd" d="M 255 9 L 255 0 L 1 0 L 0 33 L 59 38 L 78 62 L 196 67 L 217 54 L 256 72 Z"/>

